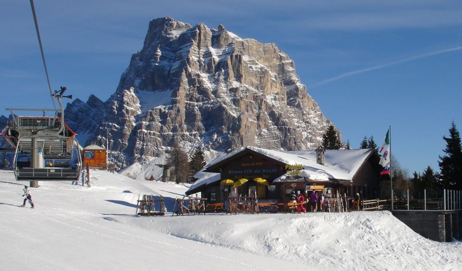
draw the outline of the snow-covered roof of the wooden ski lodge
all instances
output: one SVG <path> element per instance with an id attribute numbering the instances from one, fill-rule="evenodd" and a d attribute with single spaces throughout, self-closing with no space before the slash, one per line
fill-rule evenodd
<path id="1" fill-rule="evenodd" d="M 252 150 L 264 156 L 280 161 L 286 165 L 302 165 L 301 176 L 309 180 L 326 181 L 329 179 L 352 181 L 364 161 L 371 155 L 369 149 L 357 150 L 326 150 L 324 166 L 317 163 L 316 151 L 274 151 L 256 147 L 243 147 L 226 155 L 217 157 L 204 169 L 199 171 L 195 177 L 199 178 L 188 191 L 197 189 L 200 186 L 209 185 L 220 179 L 219 173 L 207 173 L 206 169 L 218 164 L 225 159 L 244 151 Z M 286 175 L 274 179 L 274 182 L 284 182 Z"/>

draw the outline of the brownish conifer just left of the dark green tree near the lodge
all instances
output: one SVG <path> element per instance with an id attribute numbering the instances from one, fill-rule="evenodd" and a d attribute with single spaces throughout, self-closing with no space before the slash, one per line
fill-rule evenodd
<path id="1" fill-rule="evenodd" d="M 177 184 L 185 183 L 190 175 L 188 154 L 184 152 L 177 142 L 173 143 L 172 150 L 167 157 L 167 165 L 170 166 L 171 178 Z"/>

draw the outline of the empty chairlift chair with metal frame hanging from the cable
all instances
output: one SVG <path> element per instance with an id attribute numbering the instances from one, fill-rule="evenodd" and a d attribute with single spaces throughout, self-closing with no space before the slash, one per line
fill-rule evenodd
<path id="1" fill-rule="evenodd" d="M 64 110 L 61 98 L 66 87 L 54 91 L 61 117 L 15 116 L 16 111 L 55 111 L 46 109 L 7 109 L 11 111 L 13 122 L 7 123 L 4 135 L 16 148 L 13 170 L 16 180 L 78 180 L 82 158 L 81 147 L 76 134 L 64 123 Z M 45 114 L 44 114 L 45 115 Z"/>

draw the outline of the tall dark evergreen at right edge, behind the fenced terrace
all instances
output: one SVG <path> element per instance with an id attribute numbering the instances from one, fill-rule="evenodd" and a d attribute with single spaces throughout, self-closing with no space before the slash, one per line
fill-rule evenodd
<path id="1" fill-rule="evenodd" d="M 454 121 L 449 137 L 443 136 L 443 139 L 446 141 L 446 149 L 443 150 L 446 155 L 439 156 L 440 182 L 443 188 L 462 190 L 462 147 Z"/>

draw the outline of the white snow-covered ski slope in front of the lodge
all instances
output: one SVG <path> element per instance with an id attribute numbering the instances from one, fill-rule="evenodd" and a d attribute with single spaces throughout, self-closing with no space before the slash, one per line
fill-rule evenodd
<path id="1" fill-rule="evenodd" d="M 462 270 L 462 242 L 439 243 L 387 211 L 135 216 L 139 194 L 187 186 L 91 171 L 91 188 L 39 182 L 35 209 L 0 170 L 0 270 Z"/>

